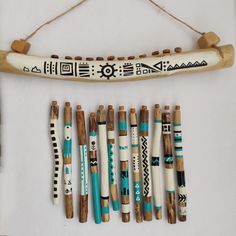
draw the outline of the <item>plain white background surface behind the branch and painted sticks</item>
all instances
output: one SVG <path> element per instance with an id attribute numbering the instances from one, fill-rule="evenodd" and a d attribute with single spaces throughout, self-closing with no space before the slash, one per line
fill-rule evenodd
<path id="1" fill-rule="evenodd" d="M 0 48 L 25 37 L 75 0 L 0 2 Z M 201 31 L 215 31 L 222 44 L 236 39 L 234 0 L 159 0 L 166 9 Z M 129 56 L 181 46 L 196 48 L 198 35 L 174 22 L 146 0 L 89 0 L 31 41 L 30 54 Z M 2 169 L 0 235 L 236 235 L 236 70 L 117 83 L 86 84 L 0 74 L 2 100 Z M 123 224 L 95 225 L 91 204 L 87 224 L 78 223 L 78 151 L 74 132 L 75 217 L 66 220 L 63 201 L 51 201 L 53 157 L 48 132 L 51 100 L 86 113 L 99 104 L 127 108 L 155 103 L 182 105 L 188 221 L 136 224 L 132 213 Z M 62 113 L 60 113 L 62 118 Z M 62 124 L 62 123 L 61 123 Z M 74 129 L 75 131 L 75 129 Z M 61 130 L 62 133 L 62 130 Z M 91 200 L 91 199 L 90 199 Z M 133 211 L 132 211 L 133 212 Z"/>

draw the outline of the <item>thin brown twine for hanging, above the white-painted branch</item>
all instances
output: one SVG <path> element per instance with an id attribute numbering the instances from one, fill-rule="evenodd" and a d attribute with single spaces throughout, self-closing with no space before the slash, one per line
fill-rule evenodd
<path id="1" fill-rule="evenodd" d="M 76 9 L 77 7 L 79 7 L 80 5 L 82 5 L 84 2 L 86 2 L 88 0 L 81 0 L 80 2 L 76 3 L 75 5 L 73 5 L 72 7 L 70 7 L 68 10 L 62 12 L 61 14 L 57 15 L 56 17 L 52 18 L 51 20 L 43 23 L 42 25 L 40 25 L 36 30 L 34 30 L 31 34 L 29 34 L 24 40 L 28 41 L 31 38 L 33 38 L 38 31 L 40 31 L 42 28 L 44 28 L 46 25 L 50 25 L 53 22 L 55 22 L 56 20 L 62 18 L 63 16 L 67 15 L 68 13 L 70 13 L 71 11 L 73 11 L 74 9 Z M 167 10 L 165 10 L 163 7 L 161 7 L 159 4 L 157 4 L 156 2 L 154 2 L 153 0 L 147 0 L 150 3 L 152 3 L 154 6 L 156 6 L 157 8 L 159 8 L 161 11 L 163 11 L 164 13 L 166 13 L 168 16 L 170 16 L 171 18 L 173 18 L 174 20 L 178 21 L 179 23 L 185 25 L 187 28 L 189 28 L 190 30 L 194 31 L 197 34 L 203 35 L 204 33 L 198 31 L 197 29 L 195 29 L 194 27 L 192 27 L 191 25 L 189 25 L 188 23 L 186 23 L 185 21 L 181 20 L 180 18 L 176 17 L 175 15 L 171 14 L 170 12 L 168 12 Z"/>

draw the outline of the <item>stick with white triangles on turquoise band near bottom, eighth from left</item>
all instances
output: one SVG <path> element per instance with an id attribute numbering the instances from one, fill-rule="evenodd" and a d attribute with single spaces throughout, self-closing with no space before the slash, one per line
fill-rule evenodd
<path id="1" fill-rule="evenodd" d="M 138 121 L 135 108 L 130 109 L 130 132 L 131 132 L 131 152 L 133 161 L 133 190 L 135 218 L 137 223 L 142 222 L 142 196 L 141 196 L 141 176 L 139 166 L 139 137 Z"/>

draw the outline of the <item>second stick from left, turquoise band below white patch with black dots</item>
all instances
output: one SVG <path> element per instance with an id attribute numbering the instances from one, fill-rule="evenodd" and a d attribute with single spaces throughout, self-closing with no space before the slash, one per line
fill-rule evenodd
<path id="1" fill-rule="evenodd" d="M 66 218 L 73 218 L 72 195 L 72 108 L 69 102 L 64 108 L 64 187 Z"/>

